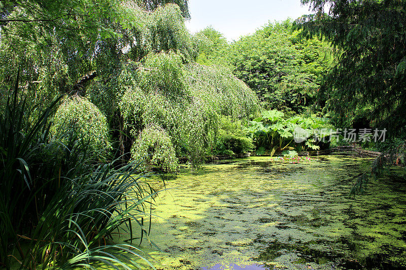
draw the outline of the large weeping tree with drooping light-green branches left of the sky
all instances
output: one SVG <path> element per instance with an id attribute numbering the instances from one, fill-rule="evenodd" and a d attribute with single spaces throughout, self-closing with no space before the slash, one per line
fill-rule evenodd
<path id="1" fill-rule="evenodd" d="M 83 136 L 98 145 L 113 138 L 129 159 L 175 171 L 187 156 L 198 166 L 215 147 L 221 115 L 242 120 L 258 109 L 229 70 L 195 62 L 205 41 L 185 27 L 187 1 L 27 0 L 1 9 L 1 79 L 21 64 L 31 102 L 74 96 L 55 125 L 67 127 L 74 112 Z"/>

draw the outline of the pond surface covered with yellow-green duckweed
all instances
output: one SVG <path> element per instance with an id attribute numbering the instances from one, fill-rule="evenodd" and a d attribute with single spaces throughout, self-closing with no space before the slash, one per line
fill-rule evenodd
<path id="1" fill-rule="evenodd" d="M 156 198 L 157 269 L 405 269 L 400 169 L 350 198 L 370 160 L 248 158 L 189 169 Z M 163 188 L 163 186 L 161 186 Z"/>

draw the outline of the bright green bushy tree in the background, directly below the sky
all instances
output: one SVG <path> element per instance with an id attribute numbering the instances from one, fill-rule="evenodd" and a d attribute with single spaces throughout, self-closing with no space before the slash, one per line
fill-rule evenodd
<path id="1" fill-rule="evenodd" d="M 269 23 L 228 47 L 222 45 L 223 50 L 214 47 L 206 62 L 230 65 L 233 73 L 257 93 L 264 108 L 302 113 L 316 100 L 330 61 L 328 44 L 317 38 L 300 39 L 291 27 L 290 20 Z M 221 37 L 215 37 L 211 41 L 222 44 Z"/>

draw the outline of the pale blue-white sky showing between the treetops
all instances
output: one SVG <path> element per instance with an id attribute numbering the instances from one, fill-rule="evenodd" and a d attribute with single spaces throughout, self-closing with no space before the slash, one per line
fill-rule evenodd
<path id="1" fill-rule="evenodd" d="M 186 21 L 186 26 L 192 33 L 211 25 L 228 41 L 255 32 L 269 20 L 296 19 L 311 13 L 308 6 L 300 5 L 300 0 L 189 0 L 188 3 L 192 18 Z"/>

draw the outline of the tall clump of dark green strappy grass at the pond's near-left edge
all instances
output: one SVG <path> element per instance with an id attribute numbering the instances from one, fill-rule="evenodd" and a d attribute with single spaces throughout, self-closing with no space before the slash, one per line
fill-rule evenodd
<path id="1" fill-rule="evenodd" d="M 51 135 L 60 99 L 38 111 L 18 90 L 17 75 L 0 112 L 0 267 L 153 267 L 133 243 L 156 194 L 140 164 L 100 164 L 75 129 Z"/>

